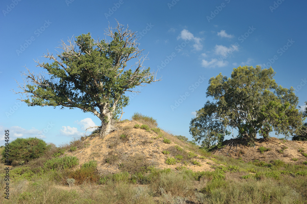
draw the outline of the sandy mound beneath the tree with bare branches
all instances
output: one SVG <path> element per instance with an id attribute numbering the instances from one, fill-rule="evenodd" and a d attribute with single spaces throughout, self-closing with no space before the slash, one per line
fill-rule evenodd
<path id="1" fill-rule="evenodd" d="M 77 149 L 75 152 L 67 151 L 65 154 L 76 156 L 80 165 L 89 160 L 96 160 L 97 169 L 102 174 L 117 173 L 119 171 L 134 173 L 142 170 L 143 166 L 151 165 L 159 169 L 175 169 L 176 167 L 185 166 L 192 171 L 212 170 L 208 164 L 213 163 L 212 160 L 197 154 L 197 151 L 192 149 L 192 145 L 162 130 L 160 133 L 155 133 L 153 130 L 146 132 L 145 129 L 136 129 L 134 128 L 135 124 L 142 125 L 138 121 L 123 122 L 119 124 L 118 131 L 107 135 L 103 139 L 100 137 L 88 137 L 84 141 L 85 148 Z M 164 138 L 171 140 L 171 143 L 163 143 Z M 162 151 L 168 151 L 169 154 L 163 154 Z M 178 158 L 178 155 L 182 155 L 184 158 Z M 175 158 L 176 156 L 176 164 L 169 165 L 165 163 L 168 157 Z M 196 164 L 193 164 L 193 161 L 196 161 Z"/>

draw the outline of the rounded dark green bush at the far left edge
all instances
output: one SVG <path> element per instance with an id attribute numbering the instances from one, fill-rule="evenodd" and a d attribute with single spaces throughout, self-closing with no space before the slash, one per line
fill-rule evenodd
<path id="1" fill-rule="evenodd" d="M 8 160 L 25 161 L 29 162 L 32 159 L 36 159 L 43 156 L 48 150 L 47 144 L 44 140 L 36 137 L 30 138 L 17 138 L 9 143 L 9 155 Z M 5 160 L 5 151 L 2 151 L 2 160 Z"/>

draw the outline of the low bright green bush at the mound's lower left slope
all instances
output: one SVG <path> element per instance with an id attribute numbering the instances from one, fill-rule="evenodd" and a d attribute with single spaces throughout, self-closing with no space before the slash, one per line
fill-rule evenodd
<path id="1" fill-rule="evenodd" d="M 79 164 L 79 159 L 75 156 L 64 156 L 64 157 L 56 157 L 52 158 L 51 160 L 47 160 L 44 163 L 44 167 L 47 169 L 66 169 L 72 168 Z"/>

